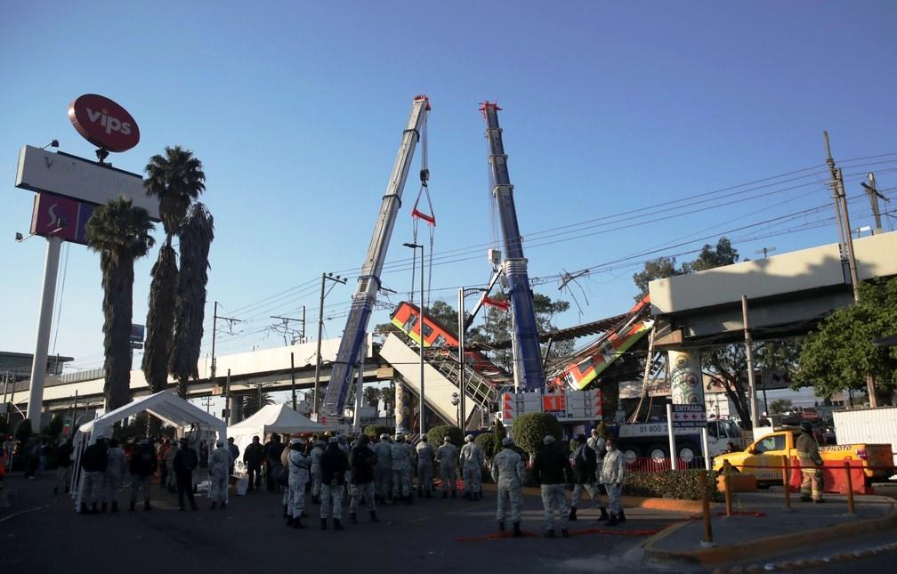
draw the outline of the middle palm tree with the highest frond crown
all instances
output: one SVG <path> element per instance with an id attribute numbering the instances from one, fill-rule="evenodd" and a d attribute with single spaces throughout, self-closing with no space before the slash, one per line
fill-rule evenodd
<path id="1" fill-rule="evenodd" d="M 148 196 L 159 198 L 159 213 L 165 230 L 159 259 L 152 265 L 142 364 L 152 392 L 158 392 L 168 385 L 177 300 L 178 263 L 171 239 L 179 233 L 190 203 L 205 191 L 205 173 L 202 161 L 179 145 L 166 147 L 164 156 L 152 156 L 144 171 L 144 189 Z"/>

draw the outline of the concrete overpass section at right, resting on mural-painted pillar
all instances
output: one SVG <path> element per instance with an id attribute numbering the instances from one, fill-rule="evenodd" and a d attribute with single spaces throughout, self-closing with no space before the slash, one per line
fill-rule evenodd
<path id="1" fill-rule="evenodd" d="M 897 275 L 897 231 L 853 245 L 860 281 Z M 658 349 L 744 341 L 742 295 L 754 340 L 806 334 L 832 310 L 853 303 L 837 243 L 658 279 L 649 292 L 658 326 L 669 327 L 655 339 Z"/>

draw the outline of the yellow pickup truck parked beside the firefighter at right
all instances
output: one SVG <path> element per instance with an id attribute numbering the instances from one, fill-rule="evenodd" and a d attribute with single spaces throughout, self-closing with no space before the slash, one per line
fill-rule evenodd
<path id="1" fill-rule="evenodd" d="M 726 461 L 739 472 L 754 474 L 759 487 L 782 483 L 781 466 L 788 456 L 788 464 L 797 464 L 795 442 L 800 429 L 777 429 L 756 439 L 743 452 L 718 455 L 713 459 L 713 469 L 722 470 Z M 850 444 L 820 447 L 819 454 L 825 462 L 842 463 L 845 459 L 857 460 L 864 467 L 866 483 L 881 482 L 894 474 L 891 445 Z M 764 467 L 771 468 L 764 468 Z M 869 467 L 877 467 L 872 469 Z M 885 467 L 885 468 L 881 468 Z"/>

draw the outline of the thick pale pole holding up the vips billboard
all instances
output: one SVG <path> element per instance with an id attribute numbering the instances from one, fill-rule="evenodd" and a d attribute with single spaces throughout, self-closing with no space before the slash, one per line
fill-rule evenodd
<path id="1" fill-rule="evenodd" d="M 50 344 L 50 328 L 53 326 L 53 301 L 56 298 L 56 281 L 59 272 L 59 252 L 62 239 L 47 237 L 47 260 L 44 263 L 44 286 L 40 296 L 38 336 L 34 344 L 34 361 L 31 363 L 31 381 L 28 395 L 28 420 L 31 431 L 40 431 L 40 411 L 44 400 L 44 378 L 47 374 L 47 350 Z"/>

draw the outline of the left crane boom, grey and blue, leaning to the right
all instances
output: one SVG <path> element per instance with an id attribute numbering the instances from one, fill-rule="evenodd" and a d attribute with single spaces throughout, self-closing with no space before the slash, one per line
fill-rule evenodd
<path id="1" fill-rule="evenodd" d="M 330 383 L 327 385 L 327 394 L 324 396 L 322 408 L 323 413 L 327 416 L 340 417 L 343 414 L 345 400 L 350 387 L 352 387 L 353 368 L 358 361 L 370 314 L 377 301 L 380 272 L 383 270 L 383 263 L 387 257 L 389 239 L 396 223 L 396 215 L 402 205 L 402 192 L 405 189 L 408 170 L 411 168 L 414 147 L 421 139 L 421 131 L 426 126 L 427 112 L 429 111 L 430 100 L 424 95 L 415 96 L 411 116 L 408 117 L 407 126 L 402 133 L 402 144 L 399 146 L 396 163 L 393 165 L 392 175 L 389 177 L 387 191 L 383 196 L 383 203 L 374 226 L 374 234 L 370 239 L 368 255 L 361 265 L 361 274 L 352 297 L 349 317 L 346 318 L 343 338 L 330 372 Z M 425 183 L 426 178 L 429 177 L 429 171 L 421 170 L 422 183 Z"/>

